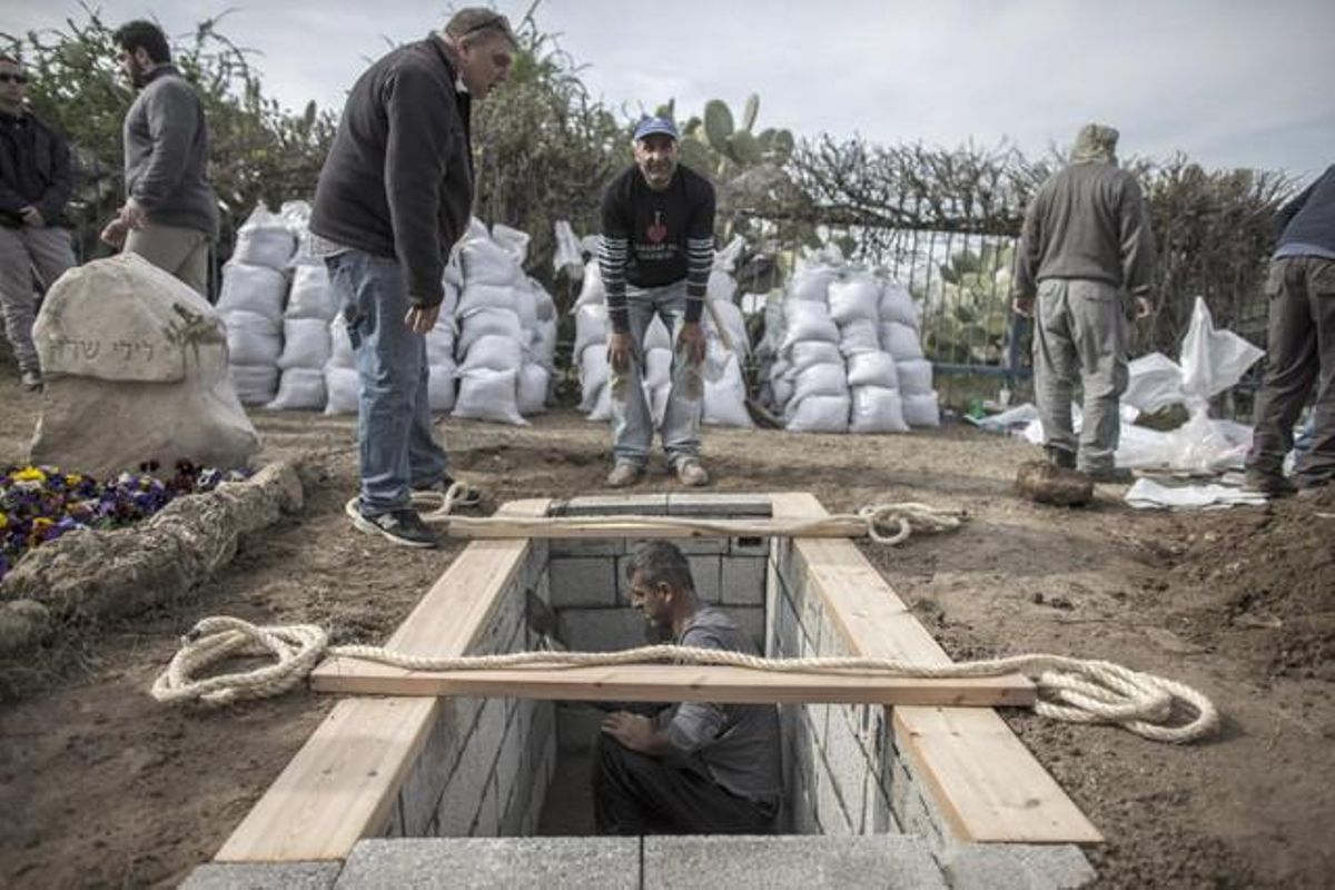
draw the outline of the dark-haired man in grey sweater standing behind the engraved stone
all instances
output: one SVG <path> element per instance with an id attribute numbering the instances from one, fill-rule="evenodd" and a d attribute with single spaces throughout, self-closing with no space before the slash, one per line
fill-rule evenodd
<path id="1" fill-rule="evenodd" d="M 139 89 L 124 124 L 125 204 L 101 239 L 139 254 L 208 298 L 208 247 L 218 236 L 218 200 L 208 187 L 208 123 L 195 88 L 171 64 L 151 21 L 112 36 L 120 68 Z"/>

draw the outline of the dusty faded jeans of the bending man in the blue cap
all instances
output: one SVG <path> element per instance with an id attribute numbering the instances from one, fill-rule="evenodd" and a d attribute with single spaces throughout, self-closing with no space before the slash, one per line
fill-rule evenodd
<path id="1" fill-rule="evenodd" d="M 705 407 L 705 382 L 700 364 L 690 363 L 677 346 L 686 320 L 686 282 L 650 290 L 626 288 L 626 310 L 634 356 L 625 371 L 611 370 L 611 435 L 617 462 L 643 467 L 654 442 L 654 419 L 645 398 L 645 332 L 654 315 L 672 334 L 672 388 L 663 410 L 662 439 L 668 464 L 700 456 L 700 415 Z"/>

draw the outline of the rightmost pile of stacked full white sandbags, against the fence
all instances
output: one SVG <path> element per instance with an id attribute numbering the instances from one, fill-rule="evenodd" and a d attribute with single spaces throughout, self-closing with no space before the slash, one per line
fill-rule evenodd
<path id="1" fill-rule="evenodd" d="M 762 399 L 793 432 L 905 432 L 940 424 L 917 312 L 896 282 L 826 256 L 765 304 Z"/>

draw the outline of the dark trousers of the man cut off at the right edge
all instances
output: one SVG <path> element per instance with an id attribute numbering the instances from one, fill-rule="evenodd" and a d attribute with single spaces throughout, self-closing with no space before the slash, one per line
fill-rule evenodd
<path id="1" fill-rule="evenodd" d="M 1312 442 L 1298 459 L 1299 487 L 1335 479 L 1335 260 L 1282 256 L 1266 280 L 1270 324 L 1266 376 L 1256 394 L 1247 468 L 1278 476 L 1294 446 L 1294 424 L 1312 388 Z"/>

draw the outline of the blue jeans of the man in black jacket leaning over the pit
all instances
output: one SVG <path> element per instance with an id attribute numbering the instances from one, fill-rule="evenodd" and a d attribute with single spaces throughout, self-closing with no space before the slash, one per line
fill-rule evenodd
<path id="1" fill-rule="evenodd" d="M 344 251 L 326 263 L 362 382 L 362 515 L 403 510 L 413 488 L 439 482 L 449 468 L 431 434 L 426 338 L 403 323 L 411 304 L 398 260 Z"/>

